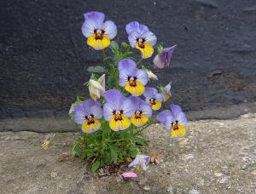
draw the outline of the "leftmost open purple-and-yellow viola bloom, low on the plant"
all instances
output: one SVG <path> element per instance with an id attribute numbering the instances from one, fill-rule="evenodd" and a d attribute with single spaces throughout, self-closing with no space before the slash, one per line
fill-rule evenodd
<path id="1" fill-rule="evenodd" d="M 100 118 L 102 109 L 99 101 L 85 100 L 74 107 L 74 122 L 82 124 L 82 130 L 86 134 L 96 132 L 101 127 Z"/>

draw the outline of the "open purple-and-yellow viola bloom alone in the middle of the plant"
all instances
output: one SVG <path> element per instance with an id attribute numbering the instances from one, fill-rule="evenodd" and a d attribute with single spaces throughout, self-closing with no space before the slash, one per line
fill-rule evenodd
<path id="1" fill-rule="evenodd" d="M 143 94 L 148 83 L 148 74 L 137 68 L 134 60 L 120 60 L 119 62 L 119 85 L 133 95 Z"/>

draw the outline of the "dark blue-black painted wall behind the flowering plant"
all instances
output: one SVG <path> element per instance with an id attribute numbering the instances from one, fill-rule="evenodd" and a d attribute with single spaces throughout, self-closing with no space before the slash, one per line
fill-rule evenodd
<path id="1" fill-rule="evenodd" d="M 66 115 L 87 94 L 84 69 L 102 62 L 80 31 L 90 10 L 116 23 L 119 41 L 138 20 L 159 43 L 177 43 L 172 67 L 158 76 L 172 80 L 172 101 L 186 111 L 256 99 L 255 0 L 16 0 L 0 10 L 1 118 Z"/>

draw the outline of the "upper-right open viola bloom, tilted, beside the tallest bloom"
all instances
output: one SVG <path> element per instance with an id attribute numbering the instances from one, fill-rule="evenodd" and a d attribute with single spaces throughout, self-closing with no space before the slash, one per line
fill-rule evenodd
<path id="1" fill-rule="evenodd" d="M 154 44 L 157 38 L 154 33 L 148 30 L 148 26 L 131 21 L 125 26 L 131 48 L 137 48 L 142 52 L 142 58 L 151 57 L 154 53 Z"/>

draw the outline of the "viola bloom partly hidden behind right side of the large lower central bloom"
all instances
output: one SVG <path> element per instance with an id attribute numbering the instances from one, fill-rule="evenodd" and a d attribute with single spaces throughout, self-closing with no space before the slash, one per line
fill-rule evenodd
<path id="1" fill-rule="evenodd" d="M 148 117 L 152 116 L 152 109 L 147 102 L 141 100 L 137 96 L 131 96 L 129 99 L 134 106 L 131 123 L 137 127 L 142 127 L 148 122 Z"/>

